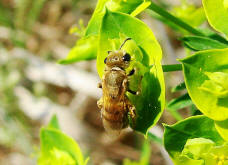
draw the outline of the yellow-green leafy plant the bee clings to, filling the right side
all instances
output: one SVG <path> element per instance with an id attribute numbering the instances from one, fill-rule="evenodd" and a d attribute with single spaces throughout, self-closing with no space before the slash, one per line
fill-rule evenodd
<path id="1" fill-rule="evenodd" d="M 193 55 L 177 60 L 181 64 L 162 66 L 158 42 L 149 27 L 135 17 L 146 8 L 167 25 L 181 29 L 180 40 Z M 227 1 L 203 0 L 203 8 L 210 25 L 227 37 Z M 147 135 L 148 129 L 159 120 L 165 108 L 163 71 L 183 70 L 185 82 L 173 91 L 187 89 L 187 93 L 167 104 L 167 109 L 180 121 L 172 126 L 164 125 L 164 146 L 176 164 L 225 165 L 228 164 L 228 41 L 212 30 L 198 28 L 204 20 L 203 12 L 197 12 L 200 20 L 194 27 L 189 25 L 193 18 L 188 15 L 195 9 L 187 12 L 178 10 L 170 14 L 147 0 L 99 0 L 79 41 L 83 40 L 86 46 L 76 44 L 60 63 L 97 57 L 97 70 L 102 77 L 107 51 L 116 50 L 125 38 L 132 38 L 123 49 L 133 59 L 129 69 L 138 71 L 129 85 L 142 89 L 138 96 L 127 93 L 138 115 L 134 129 Z M 94 38 L 97 46 L 90 44 Z M 80 50 L 79 47 L 83 48 L 82 52 L 74 51 Z M 178 110 L 190 105 L 193 113 L 199 110 L 203 115 L 182 120 Z"/>

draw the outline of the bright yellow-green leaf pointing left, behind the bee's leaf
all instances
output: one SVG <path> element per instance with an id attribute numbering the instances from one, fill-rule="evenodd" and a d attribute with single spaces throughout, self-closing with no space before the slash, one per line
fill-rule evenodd
<path id="1" fill-rule="evenodd" d="M 96 59 L 98 47 L 98 37 L 91 36 L 81 38 L 70 50 L 66 59 L 60 60 L 60 64 L 70 64 L 82 60 Z"/>

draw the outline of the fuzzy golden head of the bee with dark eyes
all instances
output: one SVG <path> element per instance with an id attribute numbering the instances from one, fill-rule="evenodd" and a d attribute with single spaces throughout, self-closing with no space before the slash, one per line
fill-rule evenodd
<path id="1" fill-rule="evenodd" d="M 114 52 L 108 52 L 108 56 L 105 58 L 104 63 L 108 67 L 119 67 L 125 69 L 129 66 L 130 61 L 130 54 L 123 50 L 118 50 Z"/>

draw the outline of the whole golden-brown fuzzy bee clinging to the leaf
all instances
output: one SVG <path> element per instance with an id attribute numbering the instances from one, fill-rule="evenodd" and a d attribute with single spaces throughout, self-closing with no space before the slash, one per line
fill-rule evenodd
<path id="1" fill-rule="evenodd" d="M 102 77 L 102 82 L 98 84 L 103 90 L 103 96 L 97 102 L 101 110 L 101 117 L 106 132 L 120 132 L 128 127 L 129 119 L 135 122 L 136 112 L 135 107 L 131 104 L 126 92 L 136 94 L 128 88 L 129 76 L 133 75 L 135 70 L 131 70 L 129 74 L 125 69 L 129 67 L 131 56 L 126 51 L 121 50 L 126 41 L 121 44 L 119 50 L 108 51 L 108 56 L 105 58 L 105 70 Z"/>

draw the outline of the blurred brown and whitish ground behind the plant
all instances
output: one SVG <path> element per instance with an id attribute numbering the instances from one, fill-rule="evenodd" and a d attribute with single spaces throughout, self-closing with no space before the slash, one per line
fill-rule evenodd
<path id="1" fill-rule="evenodd" d="M 161 2 L 161 0 L 160 0 Z M 200 1 L 189 1 L 200 5 Z M 183 1 L 162 1 L 172 8 Z M 101 97 L 96 61 L 60 65 L 78 36 L 69 34 L 79 22 L 86 26 L 96 0 L 0 0 L 0 164 L 33 165 L 39 153 L 39 130 L 57 114 L 61 128 L 90 157 L 89 164 L 122 164 L 138 160 L 144 137 L 126 130 L 113 141 L 103 129 L 96 101 Z M 165 64 L 185 56 L 178 33 L 147 12 L 140 16 L 160 42 Z M 181 72 L 166 73 L 167 100 L 178 96 L 171 87 Z M 183 117 L 188 111 L 181 111 Z M 161 123 L 176 119 L 165 111 L 151 129 L 162 137 Z M 152 165 L 171 165 L 161 145 L 151 143 Z"/>

